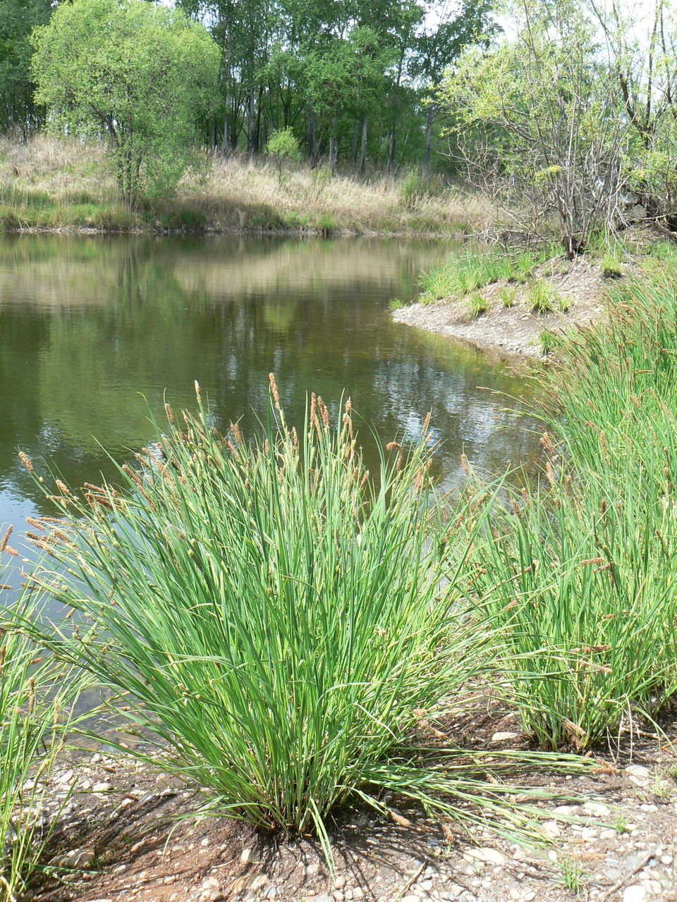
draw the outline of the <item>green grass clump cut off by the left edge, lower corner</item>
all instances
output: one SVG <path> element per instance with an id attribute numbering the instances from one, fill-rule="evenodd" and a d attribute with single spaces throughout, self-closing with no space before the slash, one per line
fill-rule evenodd
<path id="1" fill-rule="evenodd" d="M 6 545 L 5 538 L 0 542 Z M 6 575 L 6 574 L 5 574 Z M 24 599 L 0 612 L 0 900 L 28 898 L 58 811 L 45 802 L 47 783 L 63 747 L 65 720 L 77 680 L 52 658 L 42 660 L 37 646 L 17 623 L 37 615 Z M 66 804 L 64 799 L 62 804 Z"/>

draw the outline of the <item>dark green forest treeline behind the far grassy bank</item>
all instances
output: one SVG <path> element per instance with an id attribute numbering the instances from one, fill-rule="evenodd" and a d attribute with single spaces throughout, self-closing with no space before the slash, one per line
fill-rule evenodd
<path id="1" fill-rule="evenodd" d="M 301 149 L 364 170 L 431 163 L 441 107 L 432 88 L 470 41 L 496 29 L 492 0 L 178 0 L 218 46 L 201 143 L 264 152 L 291 128 Z M 0 0 L 0 131 L 45 123 L 34 97 L 33 28 L 52 0 Z"/>

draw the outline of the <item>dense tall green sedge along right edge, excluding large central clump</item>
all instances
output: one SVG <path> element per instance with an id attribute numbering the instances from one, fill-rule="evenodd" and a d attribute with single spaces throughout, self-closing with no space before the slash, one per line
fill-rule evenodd
<path id="1" fill-rule="evenodd" d="M 539 375 L 547 479 L 494 511 L 470 562 L 524 729 L 548 748 L 613 736 L 677 691 L 677 265 L 645 270 Z"/>

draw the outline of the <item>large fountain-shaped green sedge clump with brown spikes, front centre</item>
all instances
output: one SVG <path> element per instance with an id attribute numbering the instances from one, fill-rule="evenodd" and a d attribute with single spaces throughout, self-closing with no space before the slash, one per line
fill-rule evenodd
<path id="1" fill-rule="evenodd" d="M 382 448 L 375 479 L 349 403 L 331 426 L 313 396 L 297 434 L 272 392 L 251 444 L 237 428 L 221 437 L 200 402 L 181 428 L 169 411 L 116 490 L 60 486 L 77 520 L 67 541 L 48 539 L 58 578 L 40 578 L 93 628 L 45 641 L 116 694 L 120 716 L 166 751 L 162 769 L 204 787 L 214 813 L 315 832 L 329 855 L 329 815 L 382 810 L 388 789 L 535 836 L 538 815 L 504 779 L 537 756 L 433 751 L 425 738 L 492 642 L 459 593 L 464 554 L 450 568 L 445 541 L 429 540 L 429 437 Z"/>

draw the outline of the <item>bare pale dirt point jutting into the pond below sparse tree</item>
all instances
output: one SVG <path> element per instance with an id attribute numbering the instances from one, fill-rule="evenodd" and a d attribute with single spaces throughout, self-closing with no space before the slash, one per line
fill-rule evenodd
<path id="1" fill-rule="evenodd" d="M 631 266 L 626 265 L 625 269 L 629 272 Z M 479 292 L 489 306 L 487 313 L 477 318 L 470 318 L 465 303 L 458 300 L 441 300 L 426 307 L 412 304 L 395 310 L 393 318 L 395 322 L 439 332 L 480 348 L 491 348 L 505 356 L 543 357 L 541 333 L 598 319 L 604 307 L 604 293 L 613 280 L 603 278 L 598 262 L 591 263 L 584 257 L 570 263 L 563 260 L 554 265 L 543 263 L 534 277 L 543 278 L 562 298 L 568 299 L 570 310 L 544 315 L 532 313 L 525 303 L 526 285 L 509 286 L 517 292 L 515 305 L 505 308 L 498 296 L 506 284 L 496 282 Z"/>

